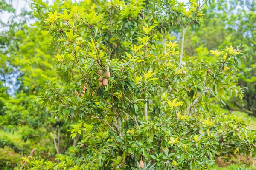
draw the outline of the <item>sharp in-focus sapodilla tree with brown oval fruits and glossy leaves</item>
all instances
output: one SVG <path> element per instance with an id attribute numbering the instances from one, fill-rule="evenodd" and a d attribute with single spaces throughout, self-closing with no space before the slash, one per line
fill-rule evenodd
<path id="1" fill-rule="evenodd" d="M 143 10 L 154 13 L 147 8 L 152 4 L 85 1 L 49 13 L 46 27 L 52 41 L 62 44 L 56 65 L 63 72 L 72 70 L 69 88 L 76 92 L 51 82 L 44 85 L 41 102 L 75 122 L 71 137 L 81 142 L 56 158 L 59 162 L 24 160 L 56 169 L 211 169 L 217 155 L 253 153 L 249 122 L 225 115 L 215 102 L 242 95 L 231 82 L 243 51 L 230 46 L 211 51 L 211 59 L 190 57 L 181 65 L 177 42 L 163 48 L 162 34 L 154 33 L 146 12 L 142 15 Z M 106 8 L 114 11 L 111 20 Z M 152 101 L 148 120 L 143 117 L 146 98 Z"/>

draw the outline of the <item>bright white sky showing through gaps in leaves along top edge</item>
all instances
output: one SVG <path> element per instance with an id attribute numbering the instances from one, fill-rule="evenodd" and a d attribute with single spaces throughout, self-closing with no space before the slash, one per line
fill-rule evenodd
<path id="1" fill-rule="evenodd" d="M 54 0 L 43 0 L 44 2 L 48 1 L 49 5 L 53 4 Z M 75 0 L 73 0 L 75 1 Z M 178 0 L 179 2 L 188 2 L 189 0 Z M 8 0 L 7 0 L 8 2 Z M 9 2 L 8 2 L 9 3 Z M 16 9 L 16 15 L 20 14 L 21 10 L 23 8 L 28 9 L 29 8 L 29 0 L 13 0 L 12 1 L 13 8 Z M 7 23 L 9 17 L 11 17 L 13 14 L 8 13 L 4 11 L 0 14 L 0 20 L 2 20 L 4 23 Z"/>

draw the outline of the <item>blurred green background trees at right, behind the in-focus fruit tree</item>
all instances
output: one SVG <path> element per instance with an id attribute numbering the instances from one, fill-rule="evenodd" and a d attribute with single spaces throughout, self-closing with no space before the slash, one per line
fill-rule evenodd
<path id="1" fill-rule="evenodd" d="M 188 30 L 185 51 L 187 55 L 204 54 L 212 48 L 242 44 L 247 52 L 246 59 L 238 67 L 238 85 L 244 89 L 243 100 L 232 99 L 228 108 L 256 116 L 256 45 L 255 20 L 256 2 L 234 0 L 227 3 L 220 0 L 204 8 L 204 26 Z"/>

